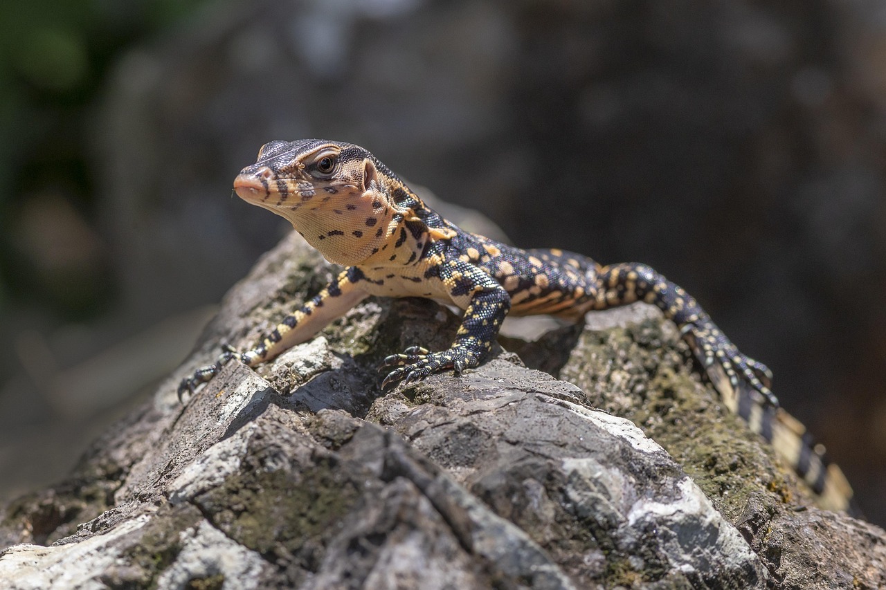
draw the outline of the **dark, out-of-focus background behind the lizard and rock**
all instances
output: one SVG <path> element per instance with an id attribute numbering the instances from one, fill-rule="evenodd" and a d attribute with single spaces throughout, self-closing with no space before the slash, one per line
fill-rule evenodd
<path id="1" fill-rule="evenodd" d="M 886 524 L 886 4 L 0 9 L 0 500 L 63 477 L 284 235 L 271 139 L 361 144 L 517 245 L 642 261 Z"/>

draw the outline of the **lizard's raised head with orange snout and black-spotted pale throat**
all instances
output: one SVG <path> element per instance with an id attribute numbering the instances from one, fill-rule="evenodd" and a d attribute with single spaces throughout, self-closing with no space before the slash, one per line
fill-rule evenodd
<path id="1" fill-rule="evenodd" d="M 326 260 L 351 266 L 379 252 L 403 219 L 394 183 L 400 181 L 359 145 L 303 139 L 264 144 L 234 190 L 290 221 Z"/>

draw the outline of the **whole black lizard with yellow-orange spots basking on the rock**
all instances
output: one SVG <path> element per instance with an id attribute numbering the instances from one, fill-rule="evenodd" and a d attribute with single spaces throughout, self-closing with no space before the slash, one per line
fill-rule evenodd
<path id="1" fill-rule="evenodd" d="M 225 348 L 214 364 L 183 380 L 193 392 L 233 358 L 250 367 L 305 342 L 369 295 L 424 297 L 464 310 L 455 342 L 444 351 L 413 346 L 385 359 L 383 387 L 444 369 L 478 366 L 508 314 L 551 314 L 578 321 L 588 311 L 642 300 L 675 322 L 729 408 L 772 440 L 771 373 L 740 353 L 696 300 L 643 264 L 602 266 L 561 250 L 521 250 L 446 221 L 369 151 L 354 144 L 305 139 L 262 146 L 258 161 L 234 181 L 237 195 L 285 217 L 330 262 L 346 269 L 314 299 L 286 316 L 253 349 Z M 763 409 L 760 409 L 763 408 Z M 817 491 L 823 460 L 809 465 L 810 445 L 797 446 Z"/>

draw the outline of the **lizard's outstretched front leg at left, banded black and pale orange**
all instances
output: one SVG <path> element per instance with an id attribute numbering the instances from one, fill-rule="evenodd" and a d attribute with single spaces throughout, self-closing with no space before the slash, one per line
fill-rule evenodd
<path id="1" fill-rule="evenodd" d="M 238 353 L 228 345 L 223 346 L 222 353 L 214 364 L 201 367 L 190 377 L 182 380 L 178 386 L 179 400 L 182 400 L 184 392 L 193 393 L 198 385 L 215 377 L 222 367 L 235 358 L 250 367 L 255 367 L 261 362 L 270 361 L 287 348 L 307 341 L 369 296 L 369 293 L 358 286 L 362 280 L 363 275 L 358 268 L 346 268 L 314 299 L 284 317 L 274 330 L 260 339 L 259 345 L 244 353 Z"/>

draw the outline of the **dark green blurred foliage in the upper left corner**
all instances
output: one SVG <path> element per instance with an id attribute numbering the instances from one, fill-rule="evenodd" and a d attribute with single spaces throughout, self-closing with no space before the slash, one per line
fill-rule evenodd
<path id="1" fill-rule="evenodd" d="M 0 8 L 0 311 L 96 314 L 112 297 L 89 125 L 128 47 L 207 0 L 27 0 Z M 98 244 L 98 246 L 97 246 Z"/>

